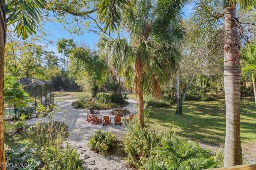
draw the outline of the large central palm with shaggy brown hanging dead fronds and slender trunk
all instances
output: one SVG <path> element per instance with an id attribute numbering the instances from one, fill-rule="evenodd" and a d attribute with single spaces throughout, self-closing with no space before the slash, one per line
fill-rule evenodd
<path id="1" fill-rule="evenodd" d="M 160 85 L 168 82 L 180 60 L 177 47 L 185 31 L 180 26 L 182 20 L 179 12 L 184 1 L 141 0 L 134 4 L 135 10 L 126 12 L 129 15 L 123 17 L 124 29 L 129 34 L 132 48 L 132 91 L 138 95 L 138 121 L 141 127 L 144 127 L 143 95 L 151 93 L 159 98 Z M 116 46 L 112 48 L 117 49 Z"/>

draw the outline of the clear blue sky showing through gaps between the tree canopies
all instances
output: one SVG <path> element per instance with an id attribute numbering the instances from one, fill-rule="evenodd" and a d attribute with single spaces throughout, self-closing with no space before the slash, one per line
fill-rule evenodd
<path id="1" fill-rule="evenodd" d="M 185 14 L 185 18 L 190 16 L 192 8 L 193 8 L 192 5 L 184 6 L 184 8 L 182 9 L 182 12 Z M 94 45 L 98 41 L 97 34 L 88 33 L 86 31 L 84 32 L 83 35 L 74 35 L 74 34 L 70 35 L 70 33 L 64 30 L 63 26 L 58 22 L 54 22 L 54 23 L 47 22 L 44 25 L 44 29 L 47 29 L 52 34 L 51 36 L 48 36 L 46 38 L 54 42 L 54 44 L 48 45 L 48 48 L 46 50 L 53 51 L 55 53 L 58 53 L 56 48 L 56 42 L 58 41 L 58 39 L 62 39 L 62 38 L 73 39 L 74 42 L 76 43 L 84 43 L 86 45 L 89 45 L 91 49 L 94 48 Z M 56 55 L 60 55 L 60 54 L 56 54 Z"/>

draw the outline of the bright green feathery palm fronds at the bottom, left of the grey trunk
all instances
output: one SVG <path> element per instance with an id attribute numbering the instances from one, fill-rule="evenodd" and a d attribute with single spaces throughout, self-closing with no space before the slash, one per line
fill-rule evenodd
<path id="1" fill-rule="evenodd" d="M 210 155 L 210 150 L 202 149 L 197 143 L 186 141 L 175 135 L 164 135 L 161 145 L 152 150 L 146 169 L 162 166 L 160 169 L 208 169 L 218 162 Z"/>

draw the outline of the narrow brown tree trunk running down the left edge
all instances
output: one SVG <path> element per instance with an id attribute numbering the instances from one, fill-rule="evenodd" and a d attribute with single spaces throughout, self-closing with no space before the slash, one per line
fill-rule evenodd
<path id="1" fill-rule="evenodd" d="M 0 170 L 6 170 L 4 154 L 4 47 L 6 43 L 5 1 L 0 1 Z"/>

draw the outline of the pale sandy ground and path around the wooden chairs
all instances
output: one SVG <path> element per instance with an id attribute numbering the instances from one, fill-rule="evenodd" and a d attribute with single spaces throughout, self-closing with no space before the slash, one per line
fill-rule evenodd
<path id="1" fill-rule="evenodd" d="M 86 122 L 86 115 L 89 113 L 89 110 L 87 109 L 75 109 L 71 106 L 71 103 L 74 100 L 66 100 L 66 101 L 58 101 L 56 102 L 57 106 L 61 106 L 63 110 L 67 110 L 67 117 L 66 119 L 63 119 L 63 114 L 56 114 L 54 117 L 55 121 L 64 121 L 69 126 L 69 141 L 72 146 L 76 146 L 78 152 L 80 153 L 80 158 L 84 159 L 85 155 L 90 156 L 85 160 L 84 163 L 84 170 L 132 170 L 133 168 L 128 166 L 126 164 L 125 160 L 122 158 L 122 156 L 116 156 L 115 153 L 110 153 L 108 156 L 101 156 L 100 154 L 95 153 L 94 151 L 91 151 L 87 147 L 87 143 L 90 139 L 90 137 L 93 135 L 93 133 L 99 129 L 102 129 L 102 131 L 110 131 L 117 135 L 117 139 L 122 139 L 123 132 L 126 130 L 125 126 L 122 124 L 116 125 L 114 124 L 114 115 L 109 114 L 110 110 L 99 110 L 100 114 L 96 114 L 99 118 L 104 115 L 108 115 L 112 118 L 112 123 L 107 126 L 102 126 L 103 123 L 100 123 L 98 125 L 92 125 L 91 123 Z M 134 100 L 128 100 L 129 104 L 124 107 L 130 111 L 130 114 L 135 113 L 136 109 L 134 109 L 132 106 L 136 104 Z M 98 110 L 95 110 L 98 111 Z M 128 117 L 128 115 L 126 115 Z M 28 125 L 34 125 L 37 118 L 28 119 L 26 123 Z M 45 119 L 44 121 L 48 121 Z M 94 164 L 88 164 L 90 162 Z"/>

